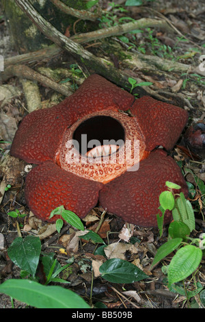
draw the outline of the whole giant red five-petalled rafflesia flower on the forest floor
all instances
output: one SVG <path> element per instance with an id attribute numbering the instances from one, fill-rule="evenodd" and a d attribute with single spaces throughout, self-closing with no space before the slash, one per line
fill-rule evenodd
<path id="1" fill-rule="evenodd" d="M 91 75 L 57 106 L 20 123 L 10 153 L 38 164 L 25 180 L 27 205 L 53 222 L 59 215 L 49 216 L 58 206 L 83 218 L 99 202 L 128 223 L 155 226 L 166 181 L 187 195 L 180 168 L 167 156 L 186 123 L 182 108 L 135 99 Z M 167 211 L 165 223 L 170 220 Z"/>

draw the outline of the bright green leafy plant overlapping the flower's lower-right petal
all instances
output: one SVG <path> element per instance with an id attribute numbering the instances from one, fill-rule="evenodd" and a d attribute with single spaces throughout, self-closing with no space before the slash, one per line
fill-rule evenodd
<path id="1" fill-rule="evenodd" d="M 199 267 L 204 254 L 204 236 L 191 238 L 190 234 L 195 230 L 195 216 L 189 200 L 183 193 L 174 193 L 180 189 L 178 184 L 166 182 L 168 190 L 159 196 L 161 215 L 157 214 L 160 236 L 163 230 L 163 218 L 165 211 L 172 211 L 173 221 L 169 225 L 168 240 L 159 247 L 152 266 L 159 263 L 172 251 L 176 251 L 169 266 L 166 269 L 169 289 L 172 284 L 189 277 Z"/>

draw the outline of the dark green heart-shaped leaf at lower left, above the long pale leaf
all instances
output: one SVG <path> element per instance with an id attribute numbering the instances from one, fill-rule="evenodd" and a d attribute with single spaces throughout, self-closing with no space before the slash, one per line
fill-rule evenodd
<path id="1" fill-rule="evenodd" d="M 38 237 L 26 236 L 14 239 L 8 248 L 8 256 L 23 271 L 27 271 L 35 277 L 41 251 L 41 243 Z"/>

